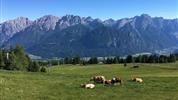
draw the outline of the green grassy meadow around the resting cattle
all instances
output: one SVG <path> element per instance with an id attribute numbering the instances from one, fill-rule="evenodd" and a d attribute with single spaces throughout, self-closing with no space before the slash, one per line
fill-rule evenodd
<path id="1" fill-rule="evenodd" d="M 0 100 L 178 100 L 178 63 L 123 65 L 60 65 L 48 73 L 0 70 Z M 91 76 L 119 76 L 123 85 L 80 88 Z M 141 77 L 143 84 L 130 82 Z"/>

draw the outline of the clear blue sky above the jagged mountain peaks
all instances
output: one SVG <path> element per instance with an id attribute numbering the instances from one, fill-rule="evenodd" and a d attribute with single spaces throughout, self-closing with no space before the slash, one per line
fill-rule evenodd
<path id="1" fill-rule="evenodd" d="M 28 17 L 35 20 L 44 15 L 82 17 L 102 20 L 130 18 L 149 14 L 152 17 L 178 18 L 178 0 L 0 0 L 0 22 Z"/>

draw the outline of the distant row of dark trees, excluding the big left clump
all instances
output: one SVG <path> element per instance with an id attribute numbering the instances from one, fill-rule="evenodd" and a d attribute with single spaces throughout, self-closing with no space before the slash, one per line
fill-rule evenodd
<path id="1" fill-rule="evenodd" d="M 166 55 L 139 55 L 127 57 L 103 57 L 103 59 L 98 59 L 97 57 L 91 57 L 89 60 L 84 58 L 76 57 L 65 57 L 60 60 L 48 60 L 47 62 L 39 61 L 40 65 L 59 65 L 59 64 L 123 64 L 123 63 L 172 63 L 178 60 L 178 55 L 170 54 Z"/>

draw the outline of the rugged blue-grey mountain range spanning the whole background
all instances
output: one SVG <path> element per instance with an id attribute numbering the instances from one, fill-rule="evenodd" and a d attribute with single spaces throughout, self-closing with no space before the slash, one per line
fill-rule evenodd
<path id="1" fill-rule="evenodd" d="M 44 58 L 122 56 L 154 52 L 178 44 L 178 19 L 142 14 L 119 20 L 46 15 L 19 17 L 0 24 L 0 46 L 22 45 Z"/>

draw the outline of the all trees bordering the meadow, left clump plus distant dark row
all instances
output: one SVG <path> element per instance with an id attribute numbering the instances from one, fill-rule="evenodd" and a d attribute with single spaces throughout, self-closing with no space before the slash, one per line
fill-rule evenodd
<path id="1" fill-rule="evenodd" d="M 0 49 L 0 69 L 5 70 L 22 70 L 30 72 L 46 72 L 45 67 L 40 66 L 53 66 L 59 64 L 126 64 L 126 63 L 171 63 L 178 60 L 178 55 L 170 54 L 165 55 L 139 55 L 127 57 L 103 57 L 98 59 L 97 57 L 91 57 L 90 59 L 75 57 L 66 57 L 60 60 L 47 60 L 47 61 L 33 61 L 25 53 L 23 47 L 17 45 L 14 48 L 5 50 Z"/>

